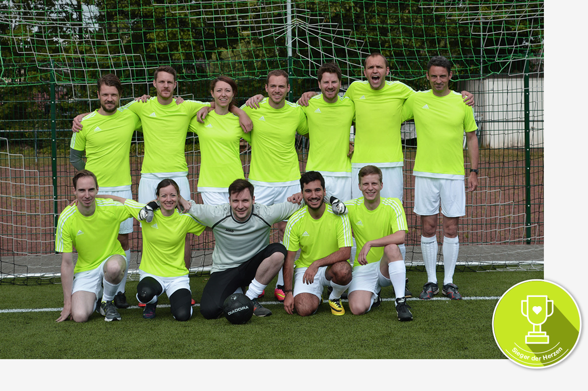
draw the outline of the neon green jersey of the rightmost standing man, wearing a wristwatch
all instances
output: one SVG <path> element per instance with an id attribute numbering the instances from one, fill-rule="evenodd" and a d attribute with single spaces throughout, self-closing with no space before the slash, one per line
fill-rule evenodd
<path id="1" fill-rule="evenodd" d="M 463 132 L 476 131 L 473 108 L 462 94 L 436 96 L 417 92 L 406 99 L 406 119 L 415 118 L 416 158 L 413 174 L 433 178 L 463 179 Z"/>

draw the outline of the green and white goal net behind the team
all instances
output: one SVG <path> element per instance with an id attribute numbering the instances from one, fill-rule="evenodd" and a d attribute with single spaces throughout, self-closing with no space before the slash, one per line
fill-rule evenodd
<path id="1" fill-rule="evenodd" d="M 290 75 L 295 102 L 317 89 L 324 62 L 338 63 L 344 91 L 363 78 L 363 59 L 375 51 L 389 60 L 392 79 L 417 90 L 429 88 L 429 58 L 444 55 L 454 64 L 452 89 L 475 95 L 480 184 L 460 220 L 458 269 L 543 269 L 543 14 L 540 1 L 498 0 L 1 2 L 0 281 L 58 276 L 55 222 L 72 199 L 75 172 L 71 122 L 99 107 L 95 83 L 103 73 L 121 79 L 122 103 L 155 94 L 158 65 L 178 71 L 176 94 L 201 101 L 210 99 L 209 81 L 226 74 L 238 82 L 243 103 L 264 92 L 267 72 L 279 68 Z M 411 123 L 402 137 L 406 263 L 419 268 Z M 308 145 L 298 146 L 304 168 Z M 195 189 L 198 138 L 189 136 L 185 151 Z M 249 152 L 243 144 L 246 171 Z M 130 156 L 133 194 L 142 153 L 138 133 Z M 212 248 L 212 235 L 192 238 L 193 272 L 206 270 Z M 136 269 L 138 225 L 131 249 Z"/>

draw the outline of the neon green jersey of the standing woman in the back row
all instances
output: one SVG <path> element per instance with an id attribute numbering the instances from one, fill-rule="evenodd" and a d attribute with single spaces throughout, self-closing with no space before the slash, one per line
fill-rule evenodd
<path id="1" fill-rule="evenodd" d="M 239 155 L 243 131 L 238 116 L 232 113 L 218 115 L 211 111 L 204 123 L 192 119 L 190 130 L 196 132 L 200 145 L 199 191 L 228 188 L 235 179 L 245 178 Z"/>

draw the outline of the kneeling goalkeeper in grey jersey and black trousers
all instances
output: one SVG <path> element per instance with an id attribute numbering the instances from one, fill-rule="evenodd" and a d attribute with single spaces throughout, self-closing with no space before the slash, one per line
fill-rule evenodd
<path id="1" fill-rule="evenodd" d="M 253 185 L 236 179 L 229 186 L 229 203 L 198 205 L 192 202 L 189 213 L 212 228 L 215 249 L 212 252 L 211 278 L 202 291 L 200 312 L 206 319 L 222 315 L 223 302 L 241 286 L 253 301 L 253 314 L 272 312 L 257 301 L 284 263 L 286 249 L 281 243 L 269 243 L 273 223 L 288 218 L 300 205 L 293 202 L 266 206 L 255 203 Z"/>

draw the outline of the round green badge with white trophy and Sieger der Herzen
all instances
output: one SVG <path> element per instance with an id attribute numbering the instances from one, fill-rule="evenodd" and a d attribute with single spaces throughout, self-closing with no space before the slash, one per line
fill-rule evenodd
<path id="1" fill-rule="evenodd" d="M 492 318 L 494 339 L 502 353 L 532 368 L 557 364 L 572 353 L 581 325 L 576 301 L 546 280 L 523 281 L 507 290 Z"/>

